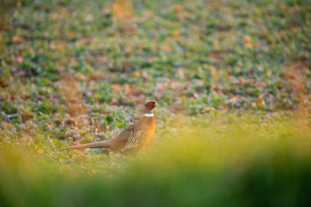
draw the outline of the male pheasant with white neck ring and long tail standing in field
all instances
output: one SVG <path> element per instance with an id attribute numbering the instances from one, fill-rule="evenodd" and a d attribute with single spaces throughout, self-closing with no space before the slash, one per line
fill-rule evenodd
<path id="1" fill-rule="evenodd" d="M 127 153 L 139 151 L 149 143 L 155 132 L 155 117 L 153 109 L 159 106 L 155 102 L 145 104 L 145 114 L 142 119 L 127 127 L 117 137 L 109 141 L 94 142 L 83 145 L 61 148 L 58 151 L 76 150 L 84 148 L 107 148 L 112 152 Z"/>

